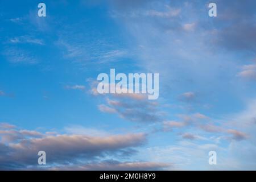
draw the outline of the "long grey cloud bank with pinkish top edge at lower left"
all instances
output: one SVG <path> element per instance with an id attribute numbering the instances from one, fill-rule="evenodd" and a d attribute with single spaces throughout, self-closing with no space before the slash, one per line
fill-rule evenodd
<path id="1" fill-rule="evenodd" d="M 56 135 L 43 138 L 22 140 L 20 143 L 11 144 L 11 147 L 32 154 L 40 149 L 51 155 L 49 162 L 59 158 L 74 156 L 94 157 L 102 155 L 105 151 L 115 151 L 121 148 L 138 146 L 145 140 L 143 134 L 112 135 L 108 137 L 90 137 L 88 135 Z M 28 149 L 30 148 L 30 149 Z"/>

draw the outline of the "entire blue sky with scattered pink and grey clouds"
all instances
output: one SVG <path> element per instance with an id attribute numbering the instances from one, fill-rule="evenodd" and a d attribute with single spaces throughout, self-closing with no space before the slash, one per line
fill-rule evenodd
<path id="1" fill-rule="evenodd" d="M 0 169 L 256 169 L 256 1 L 40 2 L 0 2 Z M 97 93 L 112 68 L 159 98 Z"/>

